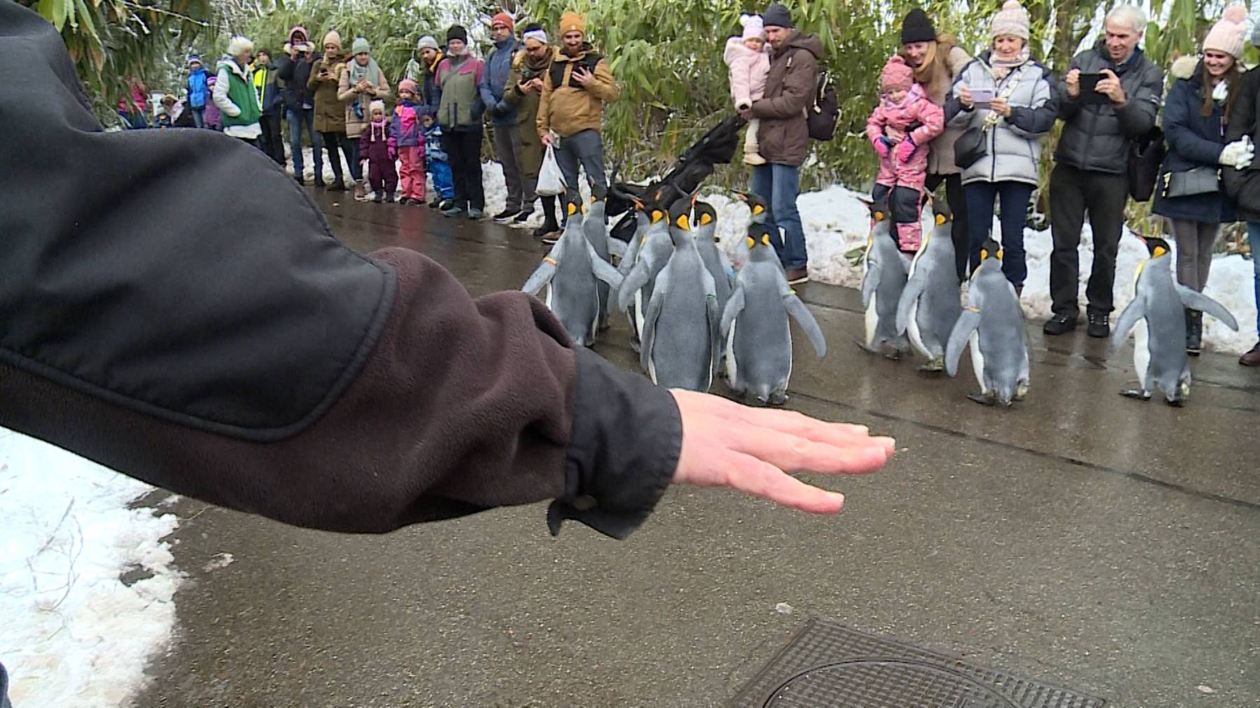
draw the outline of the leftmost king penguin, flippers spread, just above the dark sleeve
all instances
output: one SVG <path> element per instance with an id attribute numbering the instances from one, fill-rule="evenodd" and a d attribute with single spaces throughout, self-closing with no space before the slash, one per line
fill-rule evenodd
<path id="1" fill-rule="evenodd" d="M 547 306 L 573 341 L 590 346 L 595 344 L 601 315 L 597 282 L 617 287 L 621 273 L 582 234 L 582 198 L 575 194 L 564 208 L 568 213 L 564 232 L 520 290 L 537 295 L 548 286 Z"/>

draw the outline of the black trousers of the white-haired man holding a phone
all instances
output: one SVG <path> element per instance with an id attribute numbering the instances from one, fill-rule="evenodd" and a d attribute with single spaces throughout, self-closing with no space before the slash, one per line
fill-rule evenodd
<path id="1" fill-rule="evenodd" d="M 1056 165 L 1050 173 L 1050 231 L 1055 251 L 1050 256 L 1050 296 L 1055 314 L 1076 316 L 1080 263 L 1076 248 L 1081 243 L 1085 212 L 1094 232 L 1094 268 L 1085 288 L 1092 312 L 1110 312 L 1115 287 L 1115 256 L 1120 251 L 1124 228 L 1124 203 L 1129 197 L 1125 175 L 1085 171 Z"/>

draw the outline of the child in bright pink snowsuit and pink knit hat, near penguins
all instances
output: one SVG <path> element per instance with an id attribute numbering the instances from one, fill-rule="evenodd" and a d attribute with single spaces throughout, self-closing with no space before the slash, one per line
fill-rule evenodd
<path id="1" fill-rule="evenodd" d="M 919 251 L 920 213 L 927 178 L 927 144 L 945 130 L 945 112 L 915 83 L 915 71 L 898 55 L 879 76 L 879 105 L 867 118 L 867 139 L 879 154 L 879 176 L 871 198 L 892 217 L 897 248 Z"/>

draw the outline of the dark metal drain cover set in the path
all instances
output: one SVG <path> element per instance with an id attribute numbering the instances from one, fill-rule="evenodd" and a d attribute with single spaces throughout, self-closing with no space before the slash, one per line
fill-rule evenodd
<path id="1" fill-rule="evenodd" d="M 810 619 L 736 708 L 1102 708 L 1106 700 Z"/>

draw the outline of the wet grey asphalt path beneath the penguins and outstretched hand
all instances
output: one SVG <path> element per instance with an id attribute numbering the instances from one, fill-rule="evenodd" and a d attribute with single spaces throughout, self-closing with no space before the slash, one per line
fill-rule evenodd
<path id="1" fill-rule="evenodd" d="M 525 231 L 316 199 L 349 246 L 415 248 L 474 295 L 544 253 Z M 716 705 L 810 614 L 1114 705 L 1260 703 L 1256 372 L 1208 354 L 1187 408 L 1143 404 L 1116 396 L 1128 351 L 1037 328 L 1029 401 L 990 409 L 969 374 L 850 345 L 854 291 L 800 292 L 829 354 L 798 343 L 789 407 L 901 448 L 824 480 L 843 514 L 673 489 L 626 542 L 551 538 L 542 505 L 355 537 L 183 500 L 178 636 L 137 704 Z M 634 368 L 626 335 L 596 350 Z M 205 571 L 218 553 L 233 563 Z"/>

